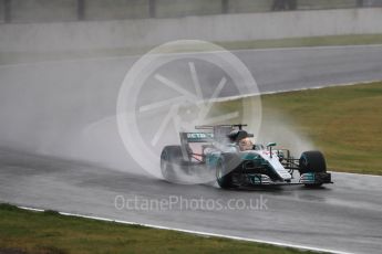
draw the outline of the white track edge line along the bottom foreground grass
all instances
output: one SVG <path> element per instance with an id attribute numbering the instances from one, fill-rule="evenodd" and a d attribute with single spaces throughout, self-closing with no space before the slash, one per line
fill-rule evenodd
<path id="1" fill-rule="evenodd" d="M 18 208 L 23 209 L 23 210 L 34 211 L 34 212 L 45 211 L 43 209 L 35 209 L 35 208 L 29 208 L 29 207 L 18 207 Z M 106 219 L 106 218 L 101 218 L 101 216 L 90 216 L 90 215 L 82 215 L 82 214 L 69 213 L 69 212 L 59 212 L 59 214 L 65 215 L 65 216 L 92 219 L 92 220 L 97 220 L 97 221 L 116 222 L 116 223 L 127 224 L 127 225 L 141 225 L 141 226 L 146 226 L 146 227 L 152 227 L 152 229 L 158 229 L 158 230 L 171 230 L 171 231 L 203 235 L 203 236 L 213 236 L 213 237 L 223 237 L 223 239 L 230 239 L 230 240 L 245 241 L 245 242 L 264 243 L 264 244 L 270 244 L 270 245 L 276 245 L 276 246 L 281 246 L 281 247 L 299 248 L 303 251 L 314 251 L 314 252 L 320 252 L 320 253 L 334 253 L 334 254 L 352 254 L 350 252 L 341 252 L 341 251 L 334 251 L 334 250 L 329 250 L 329 248 L 312 247 L 312 246 L 306 246 L 306 245 L 299 245 L 299 244 L 273 242 L 273 241 L 264 241 L 264 240 L 257 240 L 257 239 L 240 237 L 240 236 L 235 236 L 235 235 L 207 233 L 207 232 L 202 232 L 202 231 L 193 231 L 193 230 L 184 230 L 184 229 L 146 224 L 146 223 L 137 223 L 137 222 L 131 222 L 131 221 L 113 220 L 113 219 Z"/>

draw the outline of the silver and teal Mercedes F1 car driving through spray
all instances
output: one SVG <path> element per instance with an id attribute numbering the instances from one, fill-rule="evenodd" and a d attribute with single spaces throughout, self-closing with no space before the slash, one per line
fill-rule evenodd
<path id="1" fill-rule="evenodd" d="M 216 176 L 223 189 L 304 184 L 320 187 L 332 183 L 320 151 L 304 151 L 299 159 L 288 149 L 251 144 L 254 135 L 242 129 L 247 125 L 198 126 L 199 133 L 180 133 L 179 146 L 166 146 L 161 155 L 164 179 L 176 181 L 179 170 L 192 174 L 207 170 Z M 295 171 L 299 176 L 295 177 Z"/>

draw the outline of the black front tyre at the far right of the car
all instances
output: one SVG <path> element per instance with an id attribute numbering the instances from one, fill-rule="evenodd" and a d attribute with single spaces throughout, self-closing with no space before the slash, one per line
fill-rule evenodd
<path id="1" fill-rule="evenodd" d="M 299 160 L 300 176 L 307 172 L 327 172 L 327 162 L 320 151 L 304 151 Z M 320 187 L 322 183 L 307 183 L 306 187 Z"/>

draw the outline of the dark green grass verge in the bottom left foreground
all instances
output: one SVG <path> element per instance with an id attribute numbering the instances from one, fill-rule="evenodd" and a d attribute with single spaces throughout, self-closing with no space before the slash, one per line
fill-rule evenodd
<path id="1" fill-rule="evenodd" d="M 0 252 L 27 253 L 312 253 L 244 241 L 32 212 L 0 204 Z"/>

